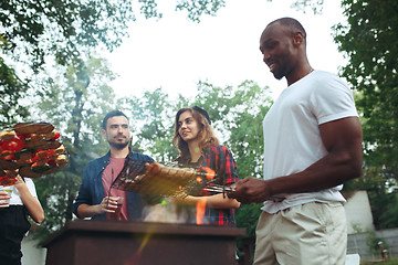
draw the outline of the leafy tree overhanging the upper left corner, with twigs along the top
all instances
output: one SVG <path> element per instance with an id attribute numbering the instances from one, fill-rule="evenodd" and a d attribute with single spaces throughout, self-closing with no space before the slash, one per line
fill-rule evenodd
<path id="1" fill-rule="evenodd" d="M 187 10 L 188 18 L 199 22 L 202 14 L 214 15 L 223 0 L 178 1 L 177 10 Z M 127 35 L 127 26 L 136 20 L 134 10 L 149 18 L 161 18 L 155 0 L 7 0 L 0 1 L 0 43 L 2 54 L 36 74 L 46 62 L 60 65 L 84 63 L 84 54 L 105 47 L 113 51 Z M 15 73 L 9 61 L 0 56 L 0 125 L 11 126 L 27 118 L 21 105 L 31 74 Z M 29 68 L 25 68 L 28 72 Z M 27 99 L 30 100 L 30 99 Z"/>

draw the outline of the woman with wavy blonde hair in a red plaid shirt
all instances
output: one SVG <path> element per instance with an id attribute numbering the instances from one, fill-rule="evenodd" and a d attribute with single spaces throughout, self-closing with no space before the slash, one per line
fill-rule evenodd
<path id="1" fill-rule="evenodd" d="M 227 186 L 239 180 L 232 153 L 219 144 L 205 109 L 195 106 L 177 112 L 172 144 L 180 151 L 180 156 L 176 159 L 178 163 L 185 167 L 210 168 L 219 177 L 224 178 L 223 183 Z M 235 225 L 234 209 L 240 206 L 237 200 L 210 191 L 188 195 L 180 203 L 187 205 L 206 203 L 205 224 L 230 226 Z"/>

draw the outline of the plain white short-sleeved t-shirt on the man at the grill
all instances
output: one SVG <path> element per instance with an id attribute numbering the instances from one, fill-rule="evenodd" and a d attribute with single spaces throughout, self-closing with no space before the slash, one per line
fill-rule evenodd
<path id="1" fill-rule="evenodd" d="M 353 116 L 358 116 L 353 93 L 336 75 L 314 71 L 286 87 L 263 120 L 264 179 L 301 172 L 326 156 L 318 126 Z M 284 200 L 265 201 L 262 210 L 275 213 L 312 201 L 344 202 L 342 188 L 279 194 Z"/>

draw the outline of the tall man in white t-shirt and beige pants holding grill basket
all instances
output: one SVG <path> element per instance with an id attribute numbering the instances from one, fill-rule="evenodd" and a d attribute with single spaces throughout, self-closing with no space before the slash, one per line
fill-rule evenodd
<path id="1" fill-rule="evenodd" d="M 314 71 L 298 21 L 271 22 L 260 39 L 264 63 L 287 87 L 263 120 L 264 180 L 247 178 L 230 192 L 263 202 L 254 264 L 345 264 L 342 184 L 360 176 L 362 128 L 352 92 Z"/>

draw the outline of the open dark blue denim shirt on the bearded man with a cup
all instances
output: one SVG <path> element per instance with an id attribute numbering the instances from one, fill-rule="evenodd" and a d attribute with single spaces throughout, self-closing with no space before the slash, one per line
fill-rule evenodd
<path id="1" fill-rule="evenodd" d="M 84 168 L 83 181 L 80 187 L 77 198 L 72 205 L 72 211 L 77 218 L 81 218 L 77 214 L 77 208 L 81 204 L 96 205 L 100 204 L 104 199 L 105 194 L 102 183 L 102 176 L 105 168 L 109 163 L 109 156 L 111 152 L 107 152 L 104 157 L 97 158 L 88 162 L 88 165 Z M 145 162 L 154 161 L 153 158 L 135 151 L 132 151 L 130 159 Z M 142 213 L 144 208 L 143 198 L 138 193 L 127 191 L 127 202 L 129 220 L 142 220 Z M 94 215 L 92 216 L 92 219 L 106 219 L 106 213 Z"/>

